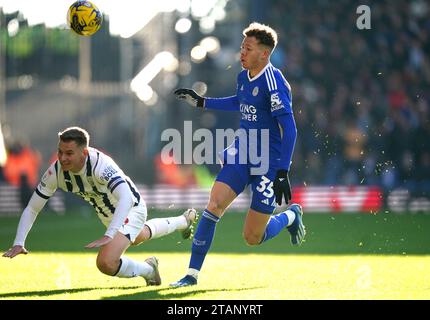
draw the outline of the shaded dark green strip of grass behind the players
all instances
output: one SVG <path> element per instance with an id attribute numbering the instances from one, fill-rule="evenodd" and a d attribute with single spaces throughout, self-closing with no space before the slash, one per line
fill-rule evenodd
<path id="1" fill-rule="evenodd" d="M 180 212 L 151 211 L 149 219 Z M 0 248 L 12 243 L 18 217 L 0 218 Z M 430 215 L 427 214 L 306 214 L 306 242 L 289 244 L 288 232 L 258 247 L 242 239 L 244 214 L 228 212 L 217 225 L 211 252 L 274 254 L 430 254 Z M 27 249 L 41 252 L 83 252 L 103 235 L 104 226 L 92 211 L 57 216 L 42 212 L 27 238 Z M 190 243 L 178 233 L 149 241 L 133 252 L 188 252 Z"/>

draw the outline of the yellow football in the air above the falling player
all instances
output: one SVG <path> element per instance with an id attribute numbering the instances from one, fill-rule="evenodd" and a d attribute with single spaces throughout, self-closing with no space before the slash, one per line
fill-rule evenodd
<path id="1" fill-rule="evenodd" d="M 67 24 L 80 36 L 96 33 L 103 22 L 100 10 L 90 1 L 76 1 L 67 12 Z"/>

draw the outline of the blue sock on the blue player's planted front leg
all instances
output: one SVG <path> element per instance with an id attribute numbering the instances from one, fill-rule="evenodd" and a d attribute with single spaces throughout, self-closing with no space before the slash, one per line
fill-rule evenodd
<path id="1" fill-rule="evenodd" d="M 191 247 L 190 268 L 201 269 L 206 254 L 211 247 L 218 221 L 219 218 L 216 215 L 210 213 L 207 209 L 203 211 Z"/>

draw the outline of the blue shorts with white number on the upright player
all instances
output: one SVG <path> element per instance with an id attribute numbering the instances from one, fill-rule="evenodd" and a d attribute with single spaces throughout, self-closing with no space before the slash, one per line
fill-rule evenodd
<path id="1" fill-rule="evenodd" d="M 224 164 L 216 177 L 216 181 L 230 186 L 237 195 L 251 185 L 252 201 L 251 209 L 272 214 L 276 209 L 273 181 L 276 177 L 276 169 L 269 167 L 265 175 L 251 175 L 247 164 Z"/>

